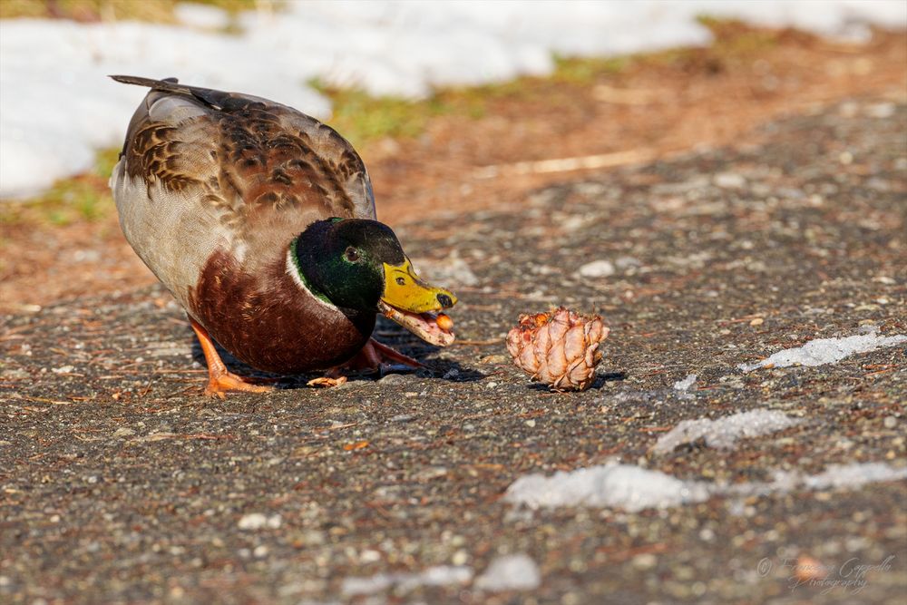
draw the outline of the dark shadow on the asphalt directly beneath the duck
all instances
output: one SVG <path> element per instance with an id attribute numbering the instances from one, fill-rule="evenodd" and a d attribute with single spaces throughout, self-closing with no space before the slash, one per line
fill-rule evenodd
<path id="1" fill-rule="evenodd" d="M 189 333 L 189 335 L 191 335 L 191 332 Z M 391 374 L 418 376 L 420 378 L 434 378 L 457 383 L 476 382 L 482 380 L 485 377 L 482 372 L 479 372 L 470 367 L 462 366 L 458 361 L 455 361 L 453 359 L 438 359 L 436 357 L 430 357 L 432 353 L 439 350 L 438 347 L 424 343 L 424 341 L 420 340 L 418 337 L 415 337 L 410 332 L 396 327 L 396 324 L 385 320 L 384 317 L 378 317 L 374 336 L 377 336 L 382 344 L 392 346 L 393 348 L 395 348 L 395 350 L 403 353 L 406 356 L 412 356 L 414 359 L 422 363 L 423 367 L 412 368 L 403 365 L 392 365 L 383 366 L 372 371 L 349 373 L 345 372 L 344 375 L 346 376 L 348 381 L 376 382 L 381 378 L 384 378 L 385 376 Z M 233 372 L 234 374 L 237 374 L 239 376 L 249 377 L 253 379 L 263 379 L 264 381 L 267 381 L 268 384 L 277 386 L 278 389 L 295 389 L 307 387 L 308 381 L 312 378 L 326 375 L 326 372 L 310 372 L 295 376 L 269 374 L 268 372 L 262 372 L 252 366 L 248 366 L 242 361 L 239 361 L 239 359 L 232 356 L 229 351 L 220 346 L 218 343 L 215 343 L 215 346 L 218 350 L 220 358 L 223 360 L 224 364 L 227 365 L 227 368 L 230 372 Z M 205 361 L 205 355 L 201 350 L 199 340 L 194 336 L 192 336 L 192 360 L 198 362 L 202 367 L 208 366 L 207 362 Z"/>

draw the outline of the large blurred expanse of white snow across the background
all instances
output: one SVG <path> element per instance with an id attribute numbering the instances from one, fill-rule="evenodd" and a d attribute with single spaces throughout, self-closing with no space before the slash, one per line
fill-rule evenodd
<path id="1" fill-rule="evenodd" d="M 552 54 L 602 56 L 708 44 L 697 15 L 865 37 L 901 28 L 902 2 L 297 2 L 239 16 L 181 6 L 184 26 L 0 20 L 0 197 L 25 195 L 92 166 L 122 141 L 144 95 L 108 73 L 178 76 L 327 117 L 313 78 L 373 94 L 422 96 L 440 85 L 551 73 Z"/>

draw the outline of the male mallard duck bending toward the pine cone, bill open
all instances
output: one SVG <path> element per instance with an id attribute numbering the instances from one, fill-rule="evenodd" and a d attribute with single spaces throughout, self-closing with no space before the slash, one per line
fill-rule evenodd
<path id="1" fill-rule="evenodd" d="M 431 344 L 453 342 L 449 319 L 434 314 L 456 297 L 420 279 L 376 220 L 366 168 L 336 131 L 248 94 L 111 77 L 151 88 L 111 189 L 123 234 L 199 337 L 206 394 L 268 390 L 230 373 L 214 341 L 281 375 L 417 364 L 371 338 L 377 313 Z"/>

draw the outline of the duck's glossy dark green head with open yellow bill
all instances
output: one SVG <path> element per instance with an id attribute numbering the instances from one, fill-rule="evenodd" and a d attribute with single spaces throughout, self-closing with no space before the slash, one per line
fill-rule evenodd
<path id="1" fill-rule="evenodd" d="M 453 292 L 426 284 L 394 231 L 365 219 L 318 220 L 291 244 L 299 277 L 317 297 L 341 310 L 381 312 L 438 346 L 453 332 L 434 313 L 456 304 Z"/>

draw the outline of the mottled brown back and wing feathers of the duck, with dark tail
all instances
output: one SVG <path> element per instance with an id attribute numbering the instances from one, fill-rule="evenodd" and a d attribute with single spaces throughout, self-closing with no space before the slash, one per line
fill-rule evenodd
<path id="1" fill-rule="evenodd" d="M 375 218 L 366 168 L 336 131 L 304 113 L 239 93 L 153 85 L 123 148 L 126 173 L 170 191 L 198 189 L 232 227 L 271 213 Z M 245 224 L 244 224 L 245 223 Z"/>

